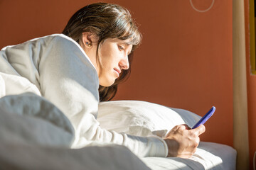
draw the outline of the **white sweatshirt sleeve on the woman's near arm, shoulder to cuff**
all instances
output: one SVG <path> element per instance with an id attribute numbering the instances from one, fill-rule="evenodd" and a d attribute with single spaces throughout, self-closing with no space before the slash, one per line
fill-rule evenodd
<path id="1" fill-rule="evenodd" d="M 75 128 L 74 148 L 95 144 L 124 145 L 139 157 L 166 157 L 160 137 L 137 137 L 100 128 L 95 67 L 80 45 L 56 36 L 46 47 L 39 64 L 41 94 L 60 108 Z"/>

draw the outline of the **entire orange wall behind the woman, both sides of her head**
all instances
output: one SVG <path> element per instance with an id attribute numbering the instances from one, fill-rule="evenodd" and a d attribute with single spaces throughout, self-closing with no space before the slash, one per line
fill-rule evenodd
<path id="1" fill-rule="evenodd" d="M 212 2 L 192 1 L 201 10 Z M 60 33 L 91 2 L 0 0 L 0 48 Z M 132 11 L 144 36 L 132 75 L 114 100 L 150 101 L 198 115 L 215 106 L 202 140 L 233 146 L 232 0 L 215 0 L 206 13 L 188 0 L 111 2 Z"/>

